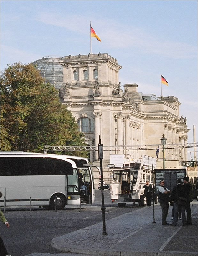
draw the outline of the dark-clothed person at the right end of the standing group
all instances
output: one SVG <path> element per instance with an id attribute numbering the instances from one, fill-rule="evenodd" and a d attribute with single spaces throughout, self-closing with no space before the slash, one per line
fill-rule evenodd
<path id="1" fill-rule="evenodd" d="M 186 210 L 186 219 L 187 219 L 187 225 L 192 225 L 192 217 L 191 217 L 191 209 L 190 209 L 190 190 L 191 190 L 191 184 L 189 183 L 189 177 L 184 177 L 184 193 L 185 198 L 187 199 L 185 210 Z"/>

